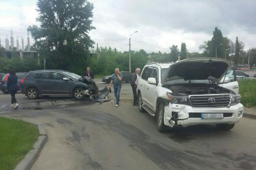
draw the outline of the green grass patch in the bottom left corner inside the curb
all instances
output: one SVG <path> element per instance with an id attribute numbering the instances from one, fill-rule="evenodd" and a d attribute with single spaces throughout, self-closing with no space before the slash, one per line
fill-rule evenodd
<path id="1" fill-rule="evenodd" d="M 14 169 L 37 141 L 38 126 L 0 117 L 0 169 Z"/>

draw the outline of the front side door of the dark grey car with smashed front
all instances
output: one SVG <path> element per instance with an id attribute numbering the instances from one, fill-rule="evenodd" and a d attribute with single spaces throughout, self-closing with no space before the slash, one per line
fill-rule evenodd
<path id="1" fill-rule="evenodd" d="M 51 74 L 52 74 L 51 94 L 61 95 L 61 96 L 71 95 L 74 81 L 70 78 L 68 81 L 63 80 L 63 78 L 68 78 L 68 76 L 61 73 L 52 72 Z"/>

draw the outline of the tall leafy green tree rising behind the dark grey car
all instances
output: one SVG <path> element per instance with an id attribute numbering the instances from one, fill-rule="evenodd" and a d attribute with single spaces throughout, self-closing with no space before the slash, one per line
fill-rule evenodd
<path id="1" fill-rule="evenodd" d="M 38 0 L 36 20 L 40 27 L 28 27 L 48 69 L 65 69 L 82 74 L 93 41 L 93 5 L 86 0 Z"/>

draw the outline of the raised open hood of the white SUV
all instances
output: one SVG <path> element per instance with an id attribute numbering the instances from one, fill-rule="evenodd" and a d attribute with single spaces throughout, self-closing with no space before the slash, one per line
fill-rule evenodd
<path id="1" fill-rule="evenodd" d="M 172 80 L 210 80 L 220 82 L 229 69 L 230 61 L 222 58 L 189 58 L 176 62 L 169 67 L 163 83 Z"/>

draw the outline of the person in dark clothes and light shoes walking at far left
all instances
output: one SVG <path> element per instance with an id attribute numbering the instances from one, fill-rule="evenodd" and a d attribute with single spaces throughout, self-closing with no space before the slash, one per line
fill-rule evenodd
<path id="1" fill-rule="evenodd" d="M 9 74 L 10 75 L 7 79 L 7 90 L 11 94 L 11 107 L 16 109 L 19 106 L 15 97 L 16 92 L 19 90 L 19 86 L 17 84 L 18 76 L 16 76 L 14 70 L 11 70 Z"/>

